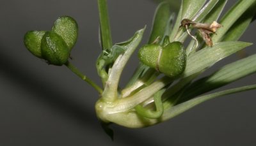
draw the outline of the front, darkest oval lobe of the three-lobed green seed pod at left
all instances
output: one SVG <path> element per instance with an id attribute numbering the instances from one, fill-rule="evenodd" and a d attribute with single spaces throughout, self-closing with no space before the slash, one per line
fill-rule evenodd
<path id="1" fill-rule="evenodd" d="M 49 63 L 61 66 L 68 61 L 70 50 L 61 36 L 47 31 L 41 42 L 42 57 Z"/>

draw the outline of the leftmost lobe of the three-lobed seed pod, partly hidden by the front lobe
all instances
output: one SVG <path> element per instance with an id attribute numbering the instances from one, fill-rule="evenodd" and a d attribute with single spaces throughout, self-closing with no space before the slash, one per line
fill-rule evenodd
<path id="1" fill-rule="evenodd" d="M 41 54 L 41 40 L 45 31 L 28 31 L 24 36 L 24 44 L 36 57 L 42 58 Z"/>

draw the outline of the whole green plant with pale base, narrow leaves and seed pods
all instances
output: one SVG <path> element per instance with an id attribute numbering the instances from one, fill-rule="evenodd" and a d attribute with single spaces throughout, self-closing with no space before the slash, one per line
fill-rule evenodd
<path id="1" fill-rule="evenodd" d="M 200 77 L 216 62 L 252 45 L 237 40 L 255 18 L 256 1 L 237 1 L 219 18 L 226 3 L 227 0 L 182 0 L 176 15 L 172 11 L 173 1 L 161 1 L 148 43 L 139 50 L 141 62 L 123 89 L 119 87 L 122 71 L 139 48 L 146 27 L 129 40 L 113 45 L 106 0 L 98 0 L 102 53 L 96 67 L 102 87 L 68 61 L 77 39 L 74 19 L 58 18 L 51 31 L 29 31 L 24 42 L 36 57 L 49 64 L 67 66 L 99 92 L 95 110 L 100 121 L 143 128 L 171 119 L 209 99 L 256 89 L 253 84 L 208 93 L 255 73 L 256 54 Z M 182 25 L 184 20 L 188 21 Z M 212 27 L 214 24 L 218 27 Z"/>

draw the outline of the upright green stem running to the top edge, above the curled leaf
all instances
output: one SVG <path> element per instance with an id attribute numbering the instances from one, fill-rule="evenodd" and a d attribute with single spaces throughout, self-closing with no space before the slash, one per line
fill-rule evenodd
<path id="1" fill-rule="evenodd" d="M 108 18 L 108 5 L 106 0 L 98 0 L 100 35 L 103 50 L 112 47 L 111 31 Z"/>

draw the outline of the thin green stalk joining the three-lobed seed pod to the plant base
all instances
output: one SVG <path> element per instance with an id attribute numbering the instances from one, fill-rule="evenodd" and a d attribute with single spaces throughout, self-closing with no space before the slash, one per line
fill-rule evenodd
<path id="1" fill-rule="evenodd" d="M 102 89 L 95 84 L 92 80 L 90 80 L 90 78 L 86 77 L 85 75 L 83 75 L 83 73 L 81 73 L 75 66 L 73 66 L 69 61 L 65 64 L 65 66 L 67 66 L 68 69 L 70 69 L 73 73 L 75 73 L 78 77 L 82 78 L 82 80 L 84 80 L 85 82 L 87 82 L 88 84 L 92 85 L 92 87 L 94 89 L 96 89 L 100 94 L 102 94 Z"/>

